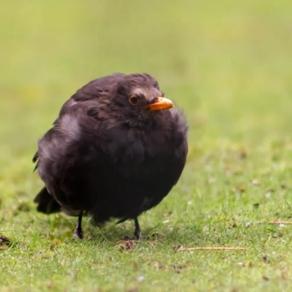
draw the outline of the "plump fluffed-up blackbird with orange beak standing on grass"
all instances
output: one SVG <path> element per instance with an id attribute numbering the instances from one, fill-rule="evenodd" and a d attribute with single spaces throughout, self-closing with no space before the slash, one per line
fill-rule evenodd
<path id="1" fill-rule="evenodd" d="M 62 106 L 33 157 L 45 187 L 34 201 L 43 213 L 101 225 L 133 219 L 156 206 L 177 183 L 187 156 L 187 125 L 149 74 L 95 79 Z"/>

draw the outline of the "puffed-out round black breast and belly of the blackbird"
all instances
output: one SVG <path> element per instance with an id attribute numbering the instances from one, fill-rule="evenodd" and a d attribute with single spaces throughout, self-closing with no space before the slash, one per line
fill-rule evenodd
<path id="1" fill-rule="evenodd" d="M 134 218 L 157 205 L 180 177 L 187 154 L 186 135 L 177 123 L 111 125 L 93 124 L 88 131 L 86 124 L 65 148 L 70 155 L 62 152 L 62 159 L 40 167 L 51 166 L 53 175 L 44 180 L 63 209 L 81 208 L 96 222 Z"/>

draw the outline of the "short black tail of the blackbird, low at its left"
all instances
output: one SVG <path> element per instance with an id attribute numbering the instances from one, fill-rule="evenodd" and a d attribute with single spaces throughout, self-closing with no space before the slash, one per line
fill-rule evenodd
<path id="1" fill-rule="evenodd" d="M 48 193 L 46 187 L 42 188 L 34 198 L 34 202 L 38 204 L 36 210 L 41 213 L 51 214 L 61 211 L 58 202 Z"/>

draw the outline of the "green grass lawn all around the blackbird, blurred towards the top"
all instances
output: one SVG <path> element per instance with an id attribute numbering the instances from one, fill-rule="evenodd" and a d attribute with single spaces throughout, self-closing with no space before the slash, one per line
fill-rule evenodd
<path id="1" fill-rule="evenodd" d="M 291 226 L 268 224 L 292 217 L 292 4 L 207 2 L 2 4 L 1 291 L 292 291 Z M 32 202 L 37 139 L 76 89 L 112 72 L 153 74 L 190 125 L 183 175 L 128 250 L 132 222 L 84 220 L 91 239 L 77 241 L 76 218 Z"/>

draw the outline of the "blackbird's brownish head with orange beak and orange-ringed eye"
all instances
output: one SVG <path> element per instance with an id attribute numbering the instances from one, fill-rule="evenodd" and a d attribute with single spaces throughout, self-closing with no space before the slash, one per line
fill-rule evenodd
<path id="1" fill-rule="evenodd" d="M 93 80 L 79 89 L 75 100 L 96 99 L 108 118 L 149 122 L 159 112 L 174 107 L 164 98 L 154 77 L 149 74 L 113 74 Z M 132 123 L 131 123 L 132 124 Z"/>

